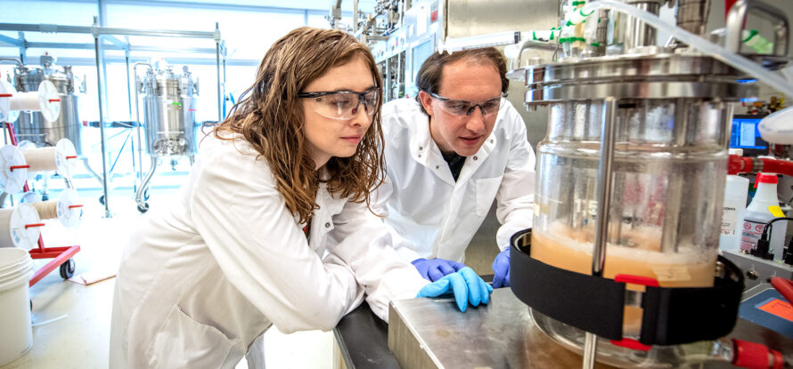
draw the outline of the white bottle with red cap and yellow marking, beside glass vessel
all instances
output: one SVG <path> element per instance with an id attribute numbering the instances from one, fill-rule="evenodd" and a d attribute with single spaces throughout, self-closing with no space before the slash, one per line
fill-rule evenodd
<path id="1" fill-rule="evenodd" d="M 763 234 L 765 223 L 774 218 L 784 217 L 780 203 L 776 196 L 777 178 L 775 174 L 757 173 L 755 197 L 746 208 L 743 221 L 743 231 L 740 238 L 740 250 L 751 252 L 757 245 L 757 240 Z M 782 248 L 785 243 L 786 222 L 778 221 L 773 224 L 771 234 L 771 252 L 774 260 L 781 260 Z"/>

